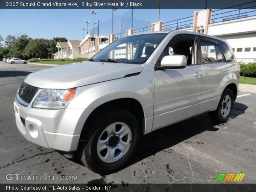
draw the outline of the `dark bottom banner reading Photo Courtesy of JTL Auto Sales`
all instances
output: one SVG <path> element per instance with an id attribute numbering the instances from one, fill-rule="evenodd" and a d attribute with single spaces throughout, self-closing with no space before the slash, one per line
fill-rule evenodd
<path id="1" fill-rule="evenodd" d="M 0 184 L 0 192 L 253 192 L 256 184 Z"/>

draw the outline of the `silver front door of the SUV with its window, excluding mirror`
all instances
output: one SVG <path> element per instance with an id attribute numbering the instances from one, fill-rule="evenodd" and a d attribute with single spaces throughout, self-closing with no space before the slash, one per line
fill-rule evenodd
<path id="1" fill-rule="evenodd" d="M 152 131 L 198 114 L 203 70 L 199 64 L 197 47 L 196 36 L 182 35 L 172 38 L 162 53 L 162 57 L 185 55 L 187 65 L 180 69 L 156 71 Z"/>

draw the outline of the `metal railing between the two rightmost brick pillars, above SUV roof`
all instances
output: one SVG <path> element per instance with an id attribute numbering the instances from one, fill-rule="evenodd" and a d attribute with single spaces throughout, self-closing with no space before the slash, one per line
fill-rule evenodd
<path id="1" fill-rule="evenodd" d="M 163 24 L 163 31 L 167 30 L 179 30 L 184 28 L 190 28 L 193 26 L 193 16 L 177 19 Z"/>

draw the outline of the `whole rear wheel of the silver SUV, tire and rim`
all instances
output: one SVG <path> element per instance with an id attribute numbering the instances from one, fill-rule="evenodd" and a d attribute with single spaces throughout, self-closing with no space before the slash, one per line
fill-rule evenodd
<path id="1" fill-rule="evenodd" d="M 234 94 L 230 88 L 223 91 L 220 102 L 215 111 L 209 112 L 210 119 L 217 124 L 227 122 L 234 104 Z"/>

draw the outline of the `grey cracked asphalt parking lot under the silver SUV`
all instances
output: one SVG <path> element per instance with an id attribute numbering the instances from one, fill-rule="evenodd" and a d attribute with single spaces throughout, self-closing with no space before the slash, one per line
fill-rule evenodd
<path id="1" fill-rule="evenodd" d="M 256 95 L 239 93 L 225 124 L 214 125 L 203 114 L 143 136 L 126 168 L 100 176 L 77 160 L 28 142 L 16 128 L 16 91 L 30 72 L 49 67 L 0 62 L 0 183 L 215 183 L 218 173 L 240 172 L 245 173 L 242 183 L 256 183 Z M 6 174 L 25 180 L 6 180 Z M 56 177 L 31 181 L 28 176 Z"/>

